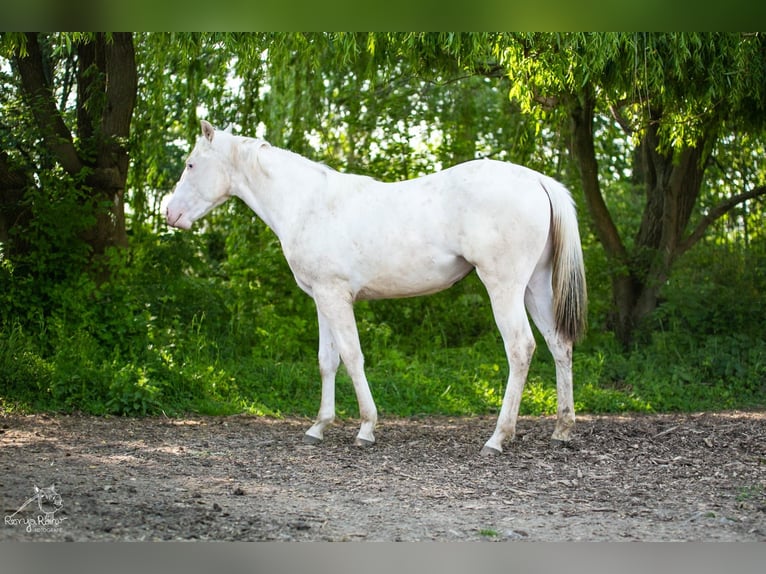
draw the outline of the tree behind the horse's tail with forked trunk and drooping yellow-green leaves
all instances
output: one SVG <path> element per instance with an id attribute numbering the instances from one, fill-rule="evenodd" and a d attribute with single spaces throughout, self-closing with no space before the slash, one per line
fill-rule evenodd
<path id="1" fill-rule="evenodd" d="M 763 180 L 698 212 L 717 145 L 734 130 L 763 133 L 766 38 L 761 34 L 525 35 L 509 43 L 512 96 L 525 109 L 569 118 L 570 149 L 588 212 L 612 269 L 614 329 L 629 344 L 657 307 L 674 263 Z M 640 225 L 608 207 L 597 120 L 633 143 L 643 187 Z M 761 175 L 762 177 L 762 175 Z M 696 217 L 695 217 L 696 215 Z"/>

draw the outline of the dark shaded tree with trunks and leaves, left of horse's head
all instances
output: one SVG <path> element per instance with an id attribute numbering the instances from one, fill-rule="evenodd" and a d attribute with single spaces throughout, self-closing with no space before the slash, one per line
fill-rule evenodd
<path id="1" fill-rule="evenodd" d="M 12 227 L 29 221 L 29 195 L 44 171 L 61 170 L 92 212 L 83 239 L 91 259 L 127 244 L 125 187 L 128 137 L 136 101 L 136 65 L 129 33 L 49 35 L 6 34 L 6 55 L 20 95 L 16 115 L 33 133 L 17 133 L 12 156 L 0 156 L 0 216 L 6 251 L 24 249 Z M 13 132 L 10 114 L 4 129 Z M 35 143 L 39 140 L 40 145 Z M 22 196 L 34 197 L 24 201 Z"/>

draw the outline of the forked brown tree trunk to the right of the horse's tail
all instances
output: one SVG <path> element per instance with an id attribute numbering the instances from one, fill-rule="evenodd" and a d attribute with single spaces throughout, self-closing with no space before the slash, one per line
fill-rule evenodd
<path id="1" fill-rule="evenodd" d="M 611 269 L 613 328 L 628 347 L 644 320 L 657 308 L 659 293 L 673 263 L 685 250 L 684 234 L 699 196 L 705 160 L 712 141 L 706 133 L 693 146 L 661 151 L 657 127 L 661 111 L 654 110 L 639 144 L 636 168 L 642 173 L 646 203 L 630 252 L 604 202 L 598 180 L 593 142 L 595 94 L 586 89 L 570 108 L 572 152 L 580 170 L 588 211 Z"/>

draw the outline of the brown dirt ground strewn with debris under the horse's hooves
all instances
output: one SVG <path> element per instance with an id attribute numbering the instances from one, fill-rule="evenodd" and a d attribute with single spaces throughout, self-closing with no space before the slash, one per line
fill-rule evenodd
<path id="1" fill-rule="evenodd" d="M 0 540 L 766 541 L 766 412 L 494 422 L 0 416 Z"/>

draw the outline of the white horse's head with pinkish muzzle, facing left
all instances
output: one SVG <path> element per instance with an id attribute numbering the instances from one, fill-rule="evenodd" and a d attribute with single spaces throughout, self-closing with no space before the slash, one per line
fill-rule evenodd
<path id="1" fill-rule="evenodd" d="M 230 138 L 227 132 L 216 131 L 202 120 L 202 136 L 186 160 L 186 168 L 165 210 L 169 225 L 189 229 L 229 198 Z"/>

